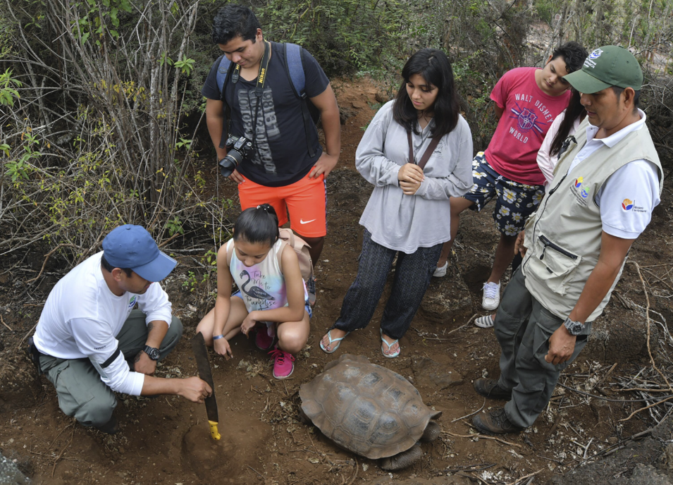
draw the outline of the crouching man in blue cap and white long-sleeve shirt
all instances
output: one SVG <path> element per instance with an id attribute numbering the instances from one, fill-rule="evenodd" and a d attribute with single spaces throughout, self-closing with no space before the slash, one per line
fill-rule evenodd
<path id="1" fill-rule="evenodd" d="M 54 384 L 58 405 L 85 426 L 118 431 L 113 391 L 175 394 L 202 403 L 212 393 L 198 377 L 153 377 L 156 362 L 178 344 L 183 325 L 171 316 L 156 281 L 175 268 L 140 226 L 120 226 L 103 251 L 72 269 L 49 293 L 31 343 L 33 361 Z M 135 305 L 140 310 L 133 310 Z"/>

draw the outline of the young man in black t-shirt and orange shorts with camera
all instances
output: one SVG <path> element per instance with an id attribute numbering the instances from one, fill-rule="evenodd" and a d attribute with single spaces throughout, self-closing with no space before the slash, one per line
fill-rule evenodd
<path id="1" fill-rule="evenodd" d="M 220 8 L 213 23 L 213 40 L 227 59 L 240 66 L 237 82 L 227 76 L 224 96 L 217 82 L 221 58 L 213 64 L 202 89 L 217 158 L 227 154 L 220 146 L 223 135 L 225 139 L 226 135 L 254 138 L 254 153 L 229 176 L 238 183 L 241 209 L 271 204 L 281 226 L 288 221 L 289 211 L 290 227 L 311 246 L 311 258 L 317 262 L 327 233 L 324 180 L 337 164 L 341 149 L 339 108 L 329 80 L 314 57 L 302 49 L 304 90 L 321 113 L 326 139 L 323 151 L 315 125 L 310 122 L 305 128 L 302 101 L 285 68 L 283 44 L 264 40 L 254 13 L 235 4 Z M 268 68 L 258 97 L 255 87 L 261 84 L 258 76 L 267 48 Z M 223 133 L 223 99 L 230 108 L 229 133 Z"/>

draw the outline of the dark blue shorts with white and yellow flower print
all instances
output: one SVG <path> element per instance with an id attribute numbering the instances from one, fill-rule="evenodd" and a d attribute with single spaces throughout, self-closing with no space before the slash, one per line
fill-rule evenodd
<path id="1" fill-rule="evenodd" d="M 498 231 L 517 235 L 524 230 L 528 216 L 538 208 L 545 195 L 544 185 L 526 185 L 503 177 L 493 170 L 483 152 L 472 160 L 474 185 L 463 197 L 474 202 L 472 210 L 481 211 L 495 197 L 493 220 Z"/>

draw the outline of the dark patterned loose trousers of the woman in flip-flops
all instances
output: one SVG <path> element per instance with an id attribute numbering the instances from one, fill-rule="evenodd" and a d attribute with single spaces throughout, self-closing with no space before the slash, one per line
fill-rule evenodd
<path id="1" fill-rule="evenodd" d="M 354 331 L 369 324 L 397 254 L 393 289 L 385 303 L 381 330 L 390 338 L 402 338 L 421 305 L 441 251 L 441 244 L 419 247 L 412 254 L 390 250 L 374 243 L 371 233 L 365 229 L 357 275 L 348 288 L 341 315 L 332 328 Z"/>

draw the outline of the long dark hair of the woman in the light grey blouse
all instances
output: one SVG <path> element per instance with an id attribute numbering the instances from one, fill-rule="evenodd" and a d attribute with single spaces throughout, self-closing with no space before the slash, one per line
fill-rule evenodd
<path id="1" fill-rule="evenodd" d="M 393 104 L 393 119 L 407 130 L 418 134 L 419 115 L 412 100 L 407 94 L 407 82 L 412 75 L 418 74 L 426 82 L 436 86 L 439 90 L 433 106 L 435 125 L 432 128 L 434 137 L 441 137 L 451 133 L 458 124 L 458 94 L 453 82 L 453 69 L 446 54 L 439 49 L 421 49 L 402 68 L 404 82 L 397 91 Z"/>

